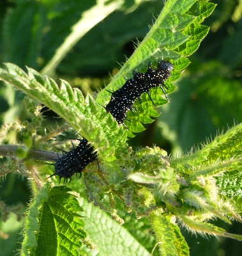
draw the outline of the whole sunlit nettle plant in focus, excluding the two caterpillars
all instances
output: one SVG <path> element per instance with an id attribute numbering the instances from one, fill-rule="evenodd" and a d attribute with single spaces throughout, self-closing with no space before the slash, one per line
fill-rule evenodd
<path id="1" fill-rule="evenodd" d="M 135 100 L 136 111 L 128 111 L 125 125 L 102 107 L 110 101 L 110 92 L 125 84 L 124 76 L 131 79 L 133 70 L 146 72 L 149 63 L 156 67 L 164 59 L 174 67 L 165 81 L 165 92 L 174 92 L 172 81 L 181 76 L 190 63 L 187 56 L 207 35 L 209 28 L 200 23 L 214 8 L 208 1 L 167 1 L 144 40 L 95 99 L 91 95 L 84 98 L 64 80 L 58 86 L 31 68 L 27 73 L 11 63 L 1 68 L 0 79 L 27 95 L 28 120 L 5 130 L 6 136 L 18 131 L 25 144 L 2 145 L 0 150 L 3 156 L 10 156 L 3 161 L 3 170 L 27 172 L 33 188 L 21 255 L 79 255 L 95 248 L 100 255 L 189 255 L 180 226 L 193 233 L 242 240 L 209 223 L 215 218 L 241 222 L 240 188 L 236 186 L 242 171 L 241 124 L 197 152 L 172 159 L 159 147 L 132 150 L 127 144 L 133 132 L 144 130 L 142 123 L 151 123 L 151 117 L 158 116 L 153 105 L 167 104 L 160 88 L 151 88 L 151 97 L 142 93 L 140 101 Z M 66 124 L 40 136 L 44 117 L 38 102 Z M 87 166 L 82 179 L 73 178 L 63 186 L 57 176 L 48 178 L 54 168 L 46 162 L 66 154 L 52 150 L 58 135 L 68 129 L 89 141 L 97 160 Z M 81 138 L 79 134 L 77 138 Z M 62 148 L 73 148 L 68 138 Z M 122 226 L 124 222 L 128 225 Z M 131 229 L 135 230 L 132 235 Z"/>

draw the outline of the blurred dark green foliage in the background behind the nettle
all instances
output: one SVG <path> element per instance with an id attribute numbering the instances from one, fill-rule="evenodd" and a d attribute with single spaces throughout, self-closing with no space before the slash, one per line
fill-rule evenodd
<path id="1" fill-rule="evenodd" d="M 57 47 L 70 33 L 70 28 L 95 1 L 6 1 L 0 2 L 0 63 L 11 62 L 21 68 L 38 71 L 48 63 Z M 132 1 L 127 1 L 130 4 Z M 203 24 L 211 27 L 198 51 L 189 57 L 192 62 L 181 78 L 178 89 L 170 95 L 170 104 L 146 131 L 136 134 L 129 143 L 133 148 L 154 144 L 173 157 L 191 148 L 199 148 L 207 138 L 226 131 L 242 121 L 242 6 L 239 1 L 213 1 L 215 11 Z M 54 79 L 62 78 L 77 86 L 84 94 L 98 92 L 110 81 L 134 50 L 133 42 L 142 40 L 160 13 L 163 1 L 140 4 L 133 12 L 117 11 L 91 29 L 61 61 Z M 24 120 L 24 95 L 0 84 L 0 124 Z M 45 113 L 46 124 L 56 124 L 52 111 Z M 9 143 L 9 141 L 5 141 Z M 3 160 L 3 159 L 1 159 Z M 14 191 L 11 188 L 15 188 Z M 8 205 L 29 202 L 27 179 L 9 173 L 0 182 L 1 200 Z M 20 225 L 12 218 L 8 248 L 19 248 Z M 241 234 L 241 225 L 216 223 L 227 232 Z M 6 232 L 1 216 L 0 230 Z M 8 230 L 9 231 L 9 230 Z M 195 236 L 183 230 L 191 255 L 242 255 L 242 243 L 225 238 Z M 10 232 L 10 231 L 9 231 Z M 0 251 L 3 246 L 0 236 Z M 17 246 L 17 247 L 16 247 Z"/>

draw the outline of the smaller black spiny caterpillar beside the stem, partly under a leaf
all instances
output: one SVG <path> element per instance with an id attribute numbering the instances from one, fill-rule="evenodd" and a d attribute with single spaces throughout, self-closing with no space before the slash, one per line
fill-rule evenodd
<path id="1" fill-rule="evenodd" d="M 55 173 L 50 175 L 49 178 L 58 175 L 59 181 L 61 182 L 61 178 L 64 178 L 64 183 L 66 183 L 68 179 L 72 180 L 74 173 L 80 173 L 81 177 L 82 170 L 87 164 L 97 160 L 95 148 L 85 138 L 79 141 L 79 145 L 70 150 L 70 152 L 61 150 L 63 156 L 55 164 L 50 164 L 55 166 Z"/>

